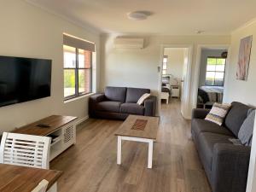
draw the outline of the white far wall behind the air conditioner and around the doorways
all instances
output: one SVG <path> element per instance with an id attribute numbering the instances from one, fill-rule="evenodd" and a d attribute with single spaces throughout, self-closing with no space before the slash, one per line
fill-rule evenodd
<path id="1" fill-rule="evenodd" d="M 102 35 L 101 57 L 101 89 L 106 85 L 145 87 L 157 95 L 159 73 L 161 66 L 160 51 L 162 44 L 192 44 L 194 45 L 192 61 L 192 80 L 194 83 L 195 55 L 198 44 L 230 44 L 230 36 L 143 36 L 144 49 L 114 49 L 114 35 Z M 197 84 L 197 82 L 196 82 Z M 191 92 L 191 91 L 190 91 Z M 190 97 L 189 113 L 192 108 Z"/>

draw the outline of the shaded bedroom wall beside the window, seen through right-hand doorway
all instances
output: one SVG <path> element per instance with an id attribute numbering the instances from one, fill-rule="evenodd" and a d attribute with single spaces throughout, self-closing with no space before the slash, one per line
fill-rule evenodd
<path id="1" fill-rule="evenodd" d="M 227 51 L 226 49 L 202 49 L 201 50 L 201 64 L 200 64 L 200 75 L 199 75 L 199 87 L 206 84 L 207 75 L 207 57 L 215 56 L 221 57 L 221 54 Z"/>

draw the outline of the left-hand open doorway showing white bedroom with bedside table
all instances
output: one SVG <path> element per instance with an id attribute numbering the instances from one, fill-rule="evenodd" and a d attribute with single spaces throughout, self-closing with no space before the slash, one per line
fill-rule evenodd
<path id="1" fill-rule="evenodd" d="M 163 46 L 160 67 L 160 108 L 181 102 L 181 113 L 189 119 L 189 86 L 192 46 Z"/>

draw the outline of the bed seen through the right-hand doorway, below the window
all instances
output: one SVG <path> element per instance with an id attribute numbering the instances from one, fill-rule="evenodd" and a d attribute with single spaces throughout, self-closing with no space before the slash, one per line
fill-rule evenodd
<path id="1" fill-rule="evenodd" d="M 214 102 L 222 103 L 223 90 L 224 87 L 222 86 L 201 86 L 198 89 L 198 106 L 211 108 Z"/>

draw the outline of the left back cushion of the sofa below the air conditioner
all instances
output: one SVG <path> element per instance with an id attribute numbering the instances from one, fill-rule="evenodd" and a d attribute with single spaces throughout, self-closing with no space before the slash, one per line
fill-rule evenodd
<path id="1" fill-rule="evenodd" d="M 105 96 L 108 100 L 113 102 L 125 102 L 126 87 L 106 87 Z"/>

